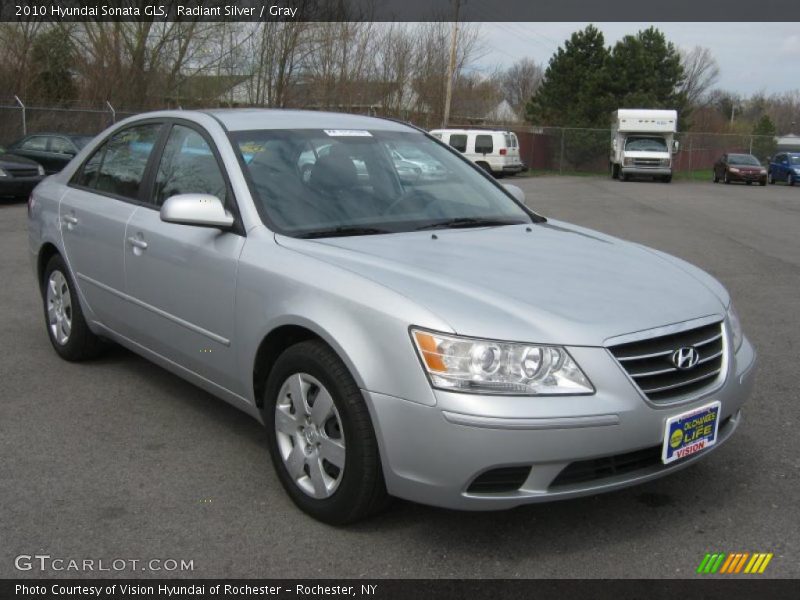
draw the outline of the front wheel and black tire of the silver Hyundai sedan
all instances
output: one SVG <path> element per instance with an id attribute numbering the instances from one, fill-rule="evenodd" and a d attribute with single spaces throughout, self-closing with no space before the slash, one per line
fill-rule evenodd
<path id="1" fill-rule="evenodd" d="M 322 407 L 319 415 L 315 406 Z M 301 510 L 324 523 L 344 525 L 388 504 L 369 411 L 329 346 L 305 341 L 278 357 L 267 379 L 262 416 L 278 478 Z"/>

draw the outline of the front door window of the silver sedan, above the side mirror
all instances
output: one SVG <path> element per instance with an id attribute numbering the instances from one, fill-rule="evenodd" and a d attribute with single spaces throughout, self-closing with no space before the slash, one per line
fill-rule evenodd
<path id="1" fill-rule="evenodd" d="M 156 175 L 155 204 L 177 194 L 211 194 L 226 201 L 225 178 L 211 147 L 197 131 L 175 125 Z"/>

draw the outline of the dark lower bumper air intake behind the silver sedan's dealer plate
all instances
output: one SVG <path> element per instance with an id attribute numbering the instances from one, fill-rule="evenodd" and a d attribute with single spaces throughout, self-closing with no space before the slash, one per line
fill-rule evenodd
<path id="1" fill-rule="evenodd" d="M 723 429 L 725 429 L 730 420 L 730 417 L 726 417 L 720 422 L 717 429 L 717 436 L 723 434 Z M 609 477 L 633 473 L 634 471 L 652 469 L 653 467 L 668 469 L 672 464 L 665 465 L 661 462 L 661 452 L 662 447 L 659 445 L 636 450 L 634 452 L 627 452 L 625 454 L 576 461 L 568 464 L 561 473 L 558 474 L 550 484 L 549 489 L 598 479 L 607 479 Z"/>

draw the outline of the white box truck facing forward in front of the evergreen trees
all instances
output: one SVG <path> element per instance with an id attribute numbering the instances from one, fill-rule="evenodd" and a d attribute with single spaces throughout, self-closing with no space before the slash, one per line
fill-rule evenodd
<path id="1" fill-rule="evenodd" d="M 611 115 L 611 177 L 672 181 L 678 111 L 621 108 Z"/>

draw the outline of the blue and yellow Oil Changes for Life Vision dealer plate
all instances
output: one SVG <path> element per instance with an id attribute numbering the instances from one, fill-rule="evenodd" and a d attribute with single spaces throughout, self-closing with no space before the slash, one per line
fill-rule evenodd
<path id="1" fill-rule="evenodd" d="M 712 402 L 667 419 L 661 452 L 664 464 L 692 456 L 716 444 L 719 409 L 720 403 Z"/>

